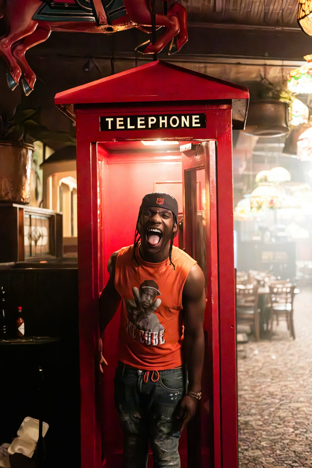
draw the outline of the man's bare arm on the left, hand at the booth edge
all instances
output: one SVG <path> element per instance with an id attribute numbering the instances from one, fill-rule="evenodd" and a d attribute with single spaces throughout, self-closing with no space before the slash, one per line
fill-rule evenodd
<path id="1" fill-rule="evenodd" d="M 121 296 L 115 288 L 115 266 L 116 257 L 118 252 L 114 252 L 110 257 L 107 264 L 109 271 L 109 280 L 103 289 L 99 299 L 99 322 L 100 322 L 100 371 L 103 372 L 102 364 L 107 366 L 106 360 L 102 355 L 102 335 L 108 323 L 114 317 L 116 310 L 120 304 Z"/>

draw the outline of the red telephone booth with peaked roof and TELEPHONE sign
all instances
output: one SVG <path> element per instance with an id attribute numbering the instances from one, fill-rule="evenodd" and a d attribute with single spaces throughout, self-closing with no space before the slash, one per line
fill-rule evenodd
<path id="1" fill-rule="evenodd" d="M 203 397 L 181 436 L 181 467 L 238 465 L 232 127 L 244 128 L 248 97 L 247 88 L 161 61 L 56 95 L 77 126 L 82 468 L 122 467 L 113 402 L 119 316 L 105 330 L 101 377 L 98 298 L 109 255 L 133 243 L 152 191 L 177 198 L 175 243 L 207 280 Z"/>

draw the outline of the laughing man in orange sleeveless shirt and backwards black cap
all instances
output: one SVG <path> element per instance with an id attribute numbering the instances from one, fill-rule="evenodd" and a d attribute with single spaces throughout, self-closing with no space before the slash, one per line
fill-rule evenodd
<path id="1" fill-rule="evenodd" d="M 201 397 L 204 276 L 195 260 L 173 246 L 177 217 L 174 197 L 145 195 L 134 245 L 110 256 L 110 278 L 100 297 L 101 336 L 122 300 L 115 405 L 126 468 L 146 467 L 148 442 L 154 468 L 179 468 L 180 432 Z M 149 299 L 143 285 L 152 294 Z M 162 299 L 154 301 L 156 295 Z M 146 325 L 152 315 L 159 324 L 155 328 Z M 101 352 L 103 372 L 102 365 L 107 362 Z"/>

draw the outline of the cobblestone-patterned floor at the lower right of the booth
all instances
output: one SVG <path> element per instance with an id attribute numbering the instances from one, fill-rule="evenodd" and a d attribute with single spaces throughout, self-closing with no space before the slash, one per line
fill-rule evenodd
<path id="1" fill-rule="evenodd" d="M 239 468 L 312 467 L 312 291 L 294 300 L 296 340 L 285 322 L 238 359 Z"/>

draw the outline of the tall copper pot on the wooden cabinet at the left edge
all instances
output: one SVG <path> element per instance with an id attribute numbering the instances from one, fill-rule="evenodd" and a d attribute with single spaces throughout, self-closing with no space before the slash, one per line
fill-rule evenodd
<path id="1" fill-rule="evenodd" d="M 0 201 L 29 203 L 34 146 L 0 141 Z"/>

